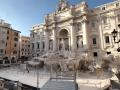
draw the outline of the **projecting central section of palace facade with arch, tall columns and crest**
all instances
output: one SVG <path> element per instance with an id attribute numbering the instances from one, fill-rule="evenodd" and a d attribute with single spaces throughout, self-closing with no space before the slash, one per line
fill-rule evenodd
<path id="1" fill-rule="evenodd" d="M 57 10 L 45 18 L 45 50 L 87 49 L 87 13 L 85 2 L 74 6 L 60 0 Z"/>

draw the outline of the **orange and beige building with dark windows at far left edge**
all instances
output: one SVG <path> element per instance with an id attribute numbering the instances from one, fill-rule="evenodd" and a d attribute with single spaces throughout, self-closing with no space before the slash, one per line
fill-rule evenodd
<path id="1" fill-rule="evenodd" d="M 19 58 L 20 31 L 11 27 L 11 24 L 0 20 L 0 60 Z"/>

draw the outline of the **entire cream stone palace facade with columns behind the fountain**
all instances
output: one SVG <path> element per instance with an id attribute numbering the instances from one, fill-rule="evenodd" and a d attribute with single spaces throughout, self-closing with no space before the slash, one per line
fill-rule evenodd
<path id="1" fill-rule="evenodd" d="M 120 0 L 93 9 L 86 2 L 69 5 L 66 0 L 60 0 L 57 10 L 47 14 L 43 24 L 32 27 L 31 54 L 78 51 L 97 59 L 103 54 L 116 55 L 119 44 L 114 43 L 111 32 L 120 31 L 118 24 Z"/>

